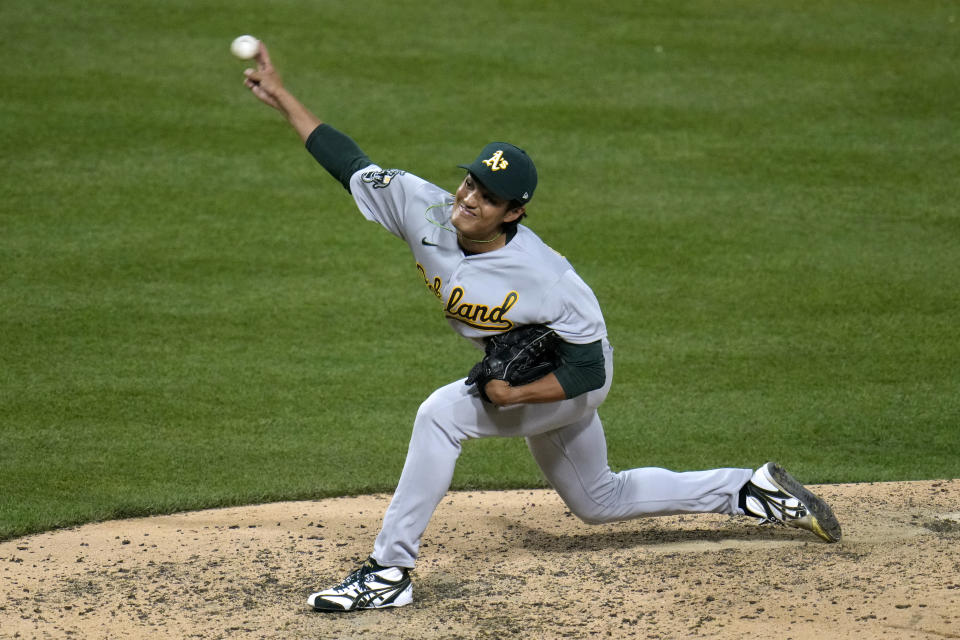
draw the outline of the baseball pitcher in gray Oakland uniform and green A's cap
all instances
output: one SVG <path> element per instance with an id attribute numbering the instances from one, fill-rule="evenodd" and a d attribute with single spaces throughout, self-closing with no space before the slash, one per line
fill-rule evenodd
<path id="1" fill-rule="evenodd" d="M 613 348 L 593 291 L 521 222 L 537 188 L 524 150 L 491 142 L 460 165 L 463 181 L 450 193 L 381 167 L 323 123 L 287 91 L 262 43 L 256 63 L 245 85 L 287 119 L 367 220 L 407 244 L 450 328 L 484 350 L 469 376 L 420 406 L 369 559 L 310 595 L 310 606 L 351 611 L 412 601 L 420 538 L 471 438 L 525 438 L 547 481 L 587 523 L 714 512 L 840 539 L 830 507 L 771 462 L 757 470 L 611 471 L 597 408 L 613 382 Z"/>

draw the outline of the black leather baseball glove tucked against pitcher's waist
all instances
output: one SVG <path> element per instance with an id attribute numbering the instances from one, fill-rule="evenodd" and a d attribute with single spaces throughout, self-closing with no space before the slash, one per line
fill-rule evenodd
<path id="1" fill-rule="evenodd" d="M 484 387 L 491 380 L 506 380 L 511 386 L 539 380 L 560 366 L 560 337 L 542 324 L 529 324 L 486 339 L 483 360 L 473 365 L 464 384 L 476 384 L 480 396 L 490 402 Z"/>

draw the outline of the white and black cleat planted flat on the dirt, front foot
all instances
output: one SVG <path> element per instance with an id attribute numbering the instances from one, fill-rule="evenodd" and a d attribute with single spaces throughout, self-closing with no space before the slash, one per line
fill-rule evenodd
<path id="1" fill-rule="evenodd" d="M 410 570 L 381 567 L 369 558 L 336 587 L 318 591 L 307 598 L 316 611 L 355 611 L 402 607 L 413 602 Z"/>

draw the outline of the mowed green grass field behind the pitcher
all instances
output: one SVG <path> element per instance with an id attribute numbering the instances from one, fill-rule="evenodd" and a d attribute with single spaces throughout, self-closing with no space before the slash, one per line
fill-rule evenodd
<path id="1" fill-rule="evenodd" d="M 604 307 L 614 468 L 960 477 L 955 2 L 0 5 L 0 539 L 392 490 L 478 352 L 228 46 L 385 166 L 486 142 Z M 542 486 L 520 440 L 455 488 Z"/>

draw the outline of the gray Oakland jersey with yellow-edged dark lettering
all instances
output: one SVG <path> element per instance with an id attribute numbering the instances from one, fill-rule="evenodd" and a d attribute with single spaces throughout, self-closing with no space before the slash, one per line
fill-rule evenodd
<path id="1" fill-rule="evenodd" d="M 606 337 L 593 291 L 533 231 L 497 251 L 465 255 L 450 222 L 453 196 L 422 178 L 371 165 L 350 180 L 360 211 L 406 241 L 454 331 L 479 343 L 514 326 L 546 324 L 565 341 Z"/>

